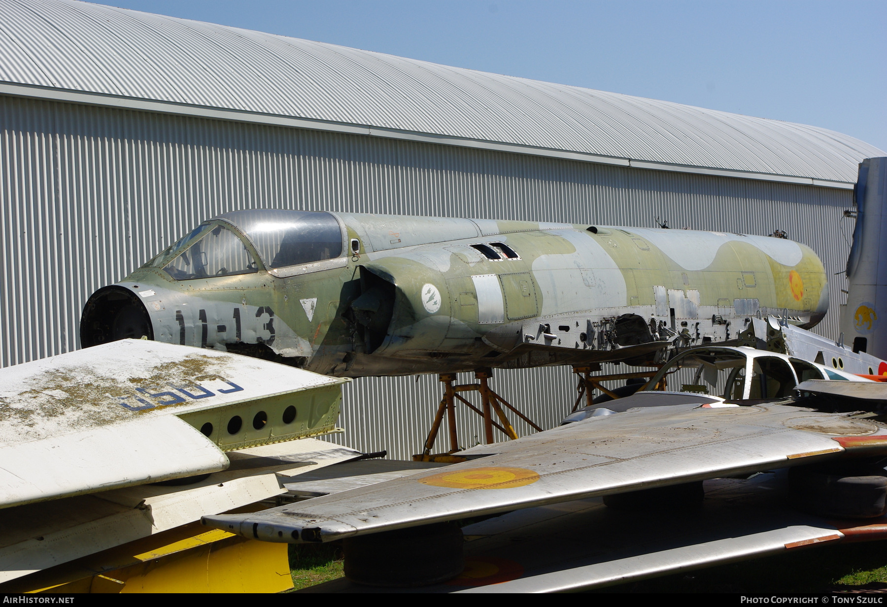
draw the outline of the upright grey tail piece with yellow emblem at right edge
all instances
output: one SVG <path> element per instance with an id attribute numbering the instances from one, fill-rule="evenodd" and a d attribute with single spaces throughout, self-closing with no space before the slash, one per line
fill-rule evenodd
<path id="1" fill-rule="evenodd" d="M 887 359 L 887 158 L 860 164 L 854 191 L 857 218 L 847 261 L 850 280 L 841 319 L 844 341 L 856 352 Z M 879 373 L 881 370 L 879 370 Z"/>

